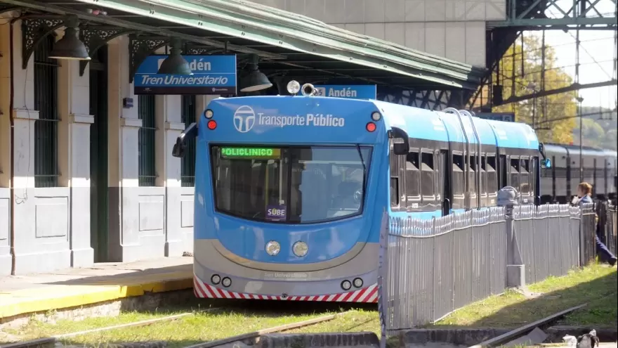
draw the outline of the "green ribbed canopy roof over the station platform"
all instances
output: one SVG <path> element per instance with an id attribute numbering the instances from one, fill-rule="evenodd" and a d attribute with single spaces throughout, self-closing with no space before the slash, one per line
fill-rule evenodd
<path id="1" fill-rule="evenodd" d="M 4 5 L 4 8 L 2 8 Z M 77 15 L 87 27 L 178 37 L 190 54 L 256 53 L 270 77 L 402 89 L 475 89 L 485 69 L 242 0 L 1 0 L 0 11 Z M 88 13 L 102 9 L 106 15 Z M 208 53 L 192 53 L 192 52 Z M 242 60 L 239 59 L 239 63 Z"/>

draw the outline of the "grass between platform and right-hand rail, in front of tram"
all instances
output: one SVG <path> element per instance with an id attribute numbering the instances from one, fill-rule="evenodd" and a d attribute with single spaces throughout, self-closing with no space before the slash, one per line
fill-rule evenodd
<path id="1" fill-rule="evenodd" d="M 288 323 L 296 323 L 341 311 L 338 306 L 333 306 L 332 304 L 324 306 L 310 302 L 299 303 L 293 308 L 289 307 L 289 303 L 270 301 L 234 301 L 218 303 L 217 307 L 219 306 L 225 306 L 225 309 L 207 312 L 196 311 L 191 316 L 183 316 L 173 321 L 161 321 L 150 326 L 120 328 L 68 337 L 61 340 L 61 342 L 67 345 L 81 345 L 162 340 L 169 342 L 169 347 L 185 347 L 197 342 L 218 340 L 224 337 Z M 22 326 L 22 328 L 4 329 L 4 331 L 11 337 L 12 341 L 25 341 L 161 318 L 163 316 L 186 313 L 190 310 L 190 308 L 178 309 L 176 307 L 174 311 L 159 313 L 125 312 L 116 317 L 87 318 L 84 321 L 59 320 L 56 323 L 43 323 L 32 320 L 26 326 Z M 0 341 L 2 341 L 1 337 Z"/>

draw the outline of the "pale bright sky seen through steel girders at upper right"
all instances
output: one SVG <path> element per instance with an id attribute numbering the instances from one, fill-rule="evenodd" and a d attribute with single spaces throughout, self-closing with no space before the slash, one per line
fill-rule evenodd
<path id="1" fill-rule="evenodd" d="M 592 1 L 594 2 L 594 1 Z M 572 0 L 558 1 L 563 10 L 568 10 Z M 616 11 L 616 5 L 612 0 L 600 0 L 595 8 L 603 15 L 612 15 Z M 593 12 L 590 11 L 589 14 Z M 559 18 L 562 14 L 555 8 L 548 8 L 548 17 Z M 596 16 L 596 13 L 594 13 Z M 590 84 L 612 79 L 614 76 L 614 59 L 616 46 L 614 46 L 614 33 L 611 30 L 580 30 L 579 31 L 579 83 Z M 529 34 L 529 33 L 526 33 Z M 541 35 L 541 32 L 534 32 Z M 555 49 L 558 66 L 564 67 L 565 72 L 575 76 L 575 37 L 576 31 L 570 30 L 546 30 L 546 46 Z M 595 63 L 595 61 L 597 63 Z M 584 106 L 601 106 L 603 108 L 615 108 L 617 100 L 617 86 L 599 87 L 596 89 L 581 89 L 579 95 L 584 98 Z"/>

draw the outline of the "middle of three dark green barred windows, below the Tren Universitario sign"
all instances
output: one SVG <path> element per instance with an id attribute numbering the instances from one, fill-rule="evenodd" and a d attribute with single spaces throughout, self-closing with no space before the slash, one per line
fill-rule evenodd
<path id="1" fill-rule="evenodd" d="M 138 114 L 143 124 L 139 130 L 139 169 L 140 186 L 155 186 L 157 169 L 155 167 L 155 96 L 139 96 Z"/>

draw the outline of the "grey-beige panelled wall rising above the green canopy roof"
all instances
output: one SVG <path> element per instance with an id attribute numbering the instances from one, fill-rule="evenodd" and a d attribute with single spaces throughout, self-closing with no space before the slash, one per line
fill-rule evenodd
<path id="1" fill-rule="evenodd" d="M 485 67 L 485 22 L 505 0 L 252 0 L 336 27 Z"/>

